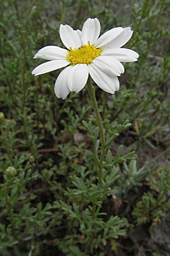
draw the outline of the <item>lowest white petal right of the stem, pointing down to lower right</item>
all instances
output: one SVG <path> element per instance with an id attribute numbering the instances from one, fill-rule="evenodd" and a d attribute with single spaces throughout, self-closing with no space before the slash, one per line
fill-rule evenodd
<path id="1" fill-rule="evenodd" d="M 95 64 L 88 65 L 88 71 L 90 76 L 95 81 L 95 83 L 105 92 L 112 93 L 119 89 L 119 81 L 117 76 L 103 72 L 101 69 L 97 68 Z"/>

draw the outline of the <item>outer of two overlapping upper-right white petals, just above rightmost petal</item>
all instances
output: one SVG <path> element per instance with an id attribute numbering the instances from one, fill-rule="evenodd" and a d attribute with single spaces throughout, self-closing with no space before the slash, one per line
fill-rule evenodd
<path id="1" fill-rule="evenodd" d="M 103 49 L 120 48 L 130 40 L 132 35 L 133 31 L 131 30 L 130 27 L 123 28 L 121 34 L 114 38 L 108 44 L 105 44 Z"/>

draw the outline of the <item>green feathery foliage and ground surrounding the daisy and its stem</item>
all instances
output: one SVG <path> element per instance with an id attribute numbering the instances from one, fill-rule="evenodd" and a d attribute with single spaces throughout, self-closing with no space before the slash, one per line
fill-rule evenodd
<path id="1" fill-rule="evenodd" d="M 169 256 L 169 1 L 0 3 L 0 255 Z M 58 100 L 59 71 L 31 75 L 38 49 L 63 47 L 59 24 L 88 17 L 101 32 L 130 26 L 126 47 L 140 55 L 115 95 L 96 86 L 109 148 L 100 186 L 87 89 Z"/>

